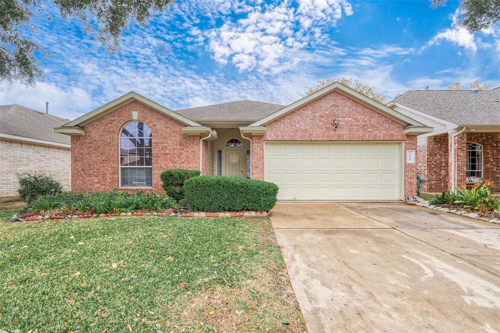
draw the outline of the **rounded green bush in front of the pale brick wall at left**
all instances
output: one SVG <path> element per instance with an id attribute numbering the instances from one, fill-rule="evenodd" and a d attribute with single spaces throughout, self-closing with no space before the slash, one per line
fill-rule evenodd
<path id="1" fill-rule="evenodd" d="M 40 195 L 54 195 L 63 191 L 62 184 L 45 173 L 19 173 L 17 181 L 19 198 L 27 203 Z"/>

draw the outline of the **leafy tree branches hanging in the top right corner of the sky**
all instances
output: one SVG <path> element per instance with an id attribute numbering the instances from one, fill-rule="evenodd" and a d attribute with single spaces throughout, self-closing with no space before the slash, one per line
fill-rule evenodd
<path id="1" fill-rule="evenodd" d="M 437 7 L 445 2 L 432 0 L 432 5 Z M 460 11 L 462 16 L 456 24 L 470 32 L 480 31 L 500 21 L 500 0 L 461 0 Z"/>

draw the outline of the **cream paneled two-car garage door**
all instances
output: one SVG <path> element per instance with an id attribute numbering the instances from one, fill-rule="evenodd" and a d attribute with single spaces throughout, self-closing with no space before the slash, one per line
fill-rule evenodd
<path id="1" fill-rule="evenodd" d="M 398 200 L 398 142 L 265 142 L 278 200 Z"/>

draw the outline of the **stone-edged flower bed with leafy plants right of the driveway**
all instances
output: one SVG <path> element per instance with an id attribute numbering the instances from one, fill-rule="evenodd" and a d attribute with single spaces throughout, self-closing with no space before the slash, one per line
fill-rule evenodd
<path id="1" fill-rule="evenodd" d="M 441 212 L 463 215 L 473 219 L 500 223 L 500 199 L 492 195 L 492 181 L 484 180 L 471 189 L 456 188 L 456 194 L 442 192 L 429 201 L 420 201 L 418 206 Z"/>

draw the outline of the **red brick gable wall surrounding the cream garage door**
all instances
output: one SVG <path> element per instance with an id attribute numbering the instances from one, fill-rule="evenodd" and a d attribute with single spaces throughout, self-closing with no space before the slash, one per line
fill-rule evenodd
<path id="1" fill-rule="evenodd" d="M 330 105 L 339 106 L 331 116 Z M 338 129 L 331 120 L 338 119 Z M 404 141 L 405 150 L 416 150 L 416 136 L 404 135 L 401 124 L 342 95 L 331 92 L 266 125 L 265 135 L 252 137 L 252 177 L 263 179 L 263 141 Z M 401 158 L 404 158 L 402 156 Z M 416 164 L 405 164 L 404 195 L 416 194 Z"/>

